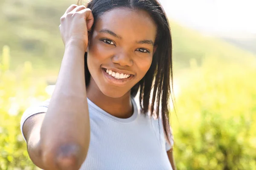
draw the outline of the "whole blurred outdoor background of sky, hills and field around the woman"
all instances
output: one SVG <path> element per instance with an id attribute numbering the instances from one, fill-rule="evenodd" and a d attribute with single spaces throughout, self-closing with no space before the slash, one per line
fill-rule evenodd
<path id="1" fill-rule="evenodd" d="M 177 169 L 256 170 L 253 0 L 161 2 L 173 38 Z M 59 19 L 72 3 L 0 0 L 0 170 L 36 169 L 20 117 L 50 98 L 64 54 Z"/>

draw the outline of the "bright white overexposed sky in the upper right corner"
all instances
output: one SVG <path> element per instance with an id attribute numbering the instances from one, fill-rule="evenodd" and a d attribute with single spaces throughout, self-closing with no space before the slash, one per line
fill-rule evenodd
<path id="1" fill-rule="evenodd" d="M 177 22 L 218 34 L 256 34 L 256 0 L 160 0 Z"/>

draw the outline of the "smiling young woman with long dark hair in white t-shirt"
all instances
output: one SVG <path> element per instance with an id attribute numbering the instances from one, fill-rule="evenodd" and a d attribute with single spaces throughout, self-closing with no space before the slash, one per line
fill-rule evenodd
<path id="1" fill-rule="evenodd" d="M 45 170 L 174 170 L 172 41 L 157 0 L 71 5 L 60 31 L 65 52 L 52 98 L 21 119 L 34 164 Z"/>

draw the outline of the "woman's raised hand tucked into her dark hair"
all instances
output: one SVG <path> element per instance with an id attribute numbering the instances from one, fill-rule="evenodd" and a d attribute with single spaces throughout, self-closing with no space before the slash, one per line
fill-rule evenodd
<path id="1" fill-rule="evenodd" d="M 85 6 L 71 5 L 61 17 L 61 37 L 65 48 L 68 45 L 78 45 L 79 48 L 87 49 L 88 30 L 93 26 L 93 14 Z"/>

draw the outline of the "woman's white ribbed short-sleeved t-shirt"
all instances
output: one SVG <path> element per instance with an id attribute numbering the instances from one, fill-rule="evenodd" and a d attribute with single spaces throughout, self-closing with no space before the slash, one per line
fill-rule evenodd
<path id="1" fill-rule="evenodd" d="M 20 122 L 22 134 L 26 119 L 46 112 L 49 101 L 30 107 L 23 113 Z M 80 170 L 172 170 L 166 153 L 172 146 L 164 138 L 160 119 L 154 120 L 140 113 L 134 99 L 134 113 L 127 119 L 112 116 L 90 99 L 87 101 L 90 145 Z"/>

